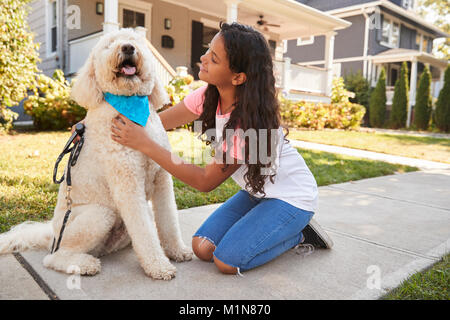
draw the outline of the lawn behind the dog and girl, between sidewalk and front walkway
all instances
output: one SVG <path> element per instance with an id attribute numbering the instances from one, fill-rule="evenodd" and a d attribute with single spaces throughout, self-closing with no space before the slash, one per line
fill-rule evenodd
<path id="1" fill-rule="evenodd" d="M 169 132 L 174 152 L 186 161 L 208 163 L 204 144 L 186 130 Z M 26 220 L 50 219 L 56 205 L 59 185 L 52 181 L 53 167 L 69 132 L 25 132 L 0 136 L 0 233 Z M 299 150 L 319 186 L 417 170 L 327 152 Z M 203 159 L 199 154 L 206 155 Z M 210 156 L 209 156 L 210 157 Z M 68 156 L 60 164 L 63 173 Z M 178 209 L 226 201 L 239 186 L 231 179 L 209 193 L 202 193 L 173 178 Z"/>

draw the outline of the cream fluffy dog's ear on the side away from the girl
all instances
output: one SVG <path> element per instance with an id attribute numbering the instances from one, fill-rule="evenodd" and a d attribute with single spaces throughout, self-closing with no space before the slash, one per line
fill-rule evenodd
<path id="1" fill-rule="evenodd" d="M 85 109 L 95 108 L 103 100 L 103 93 L 95 79 L 94 55 L 92 52 L 74 79 L 71 98 Z"/>

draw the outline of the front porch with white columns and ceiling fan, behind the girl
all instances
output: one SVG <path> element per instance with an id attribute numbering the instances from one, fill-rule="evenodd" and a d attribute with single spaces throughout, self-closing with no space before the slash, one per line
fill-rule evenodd
<path id="1" fill-rule="evenodd" d="M 71 2 L 82 13 L 94 10 L 91 1 Z M 335 30 L 350 23 L 293 0 L 105 0 L 102 16 L 86 20 L 81 30 L 68 31 L 66 74 L 77 72 L 104 33 L 133 27 L 153 44 L 158 76 L 164 83 L 176 75 L 178 66 L 196 77 L 200 56 L 220 21 L 238 21 L 263 33 L 272 52 L 276 86 L 288 98 L 329 101 Z M 285 40 L 318 35 L 326 36 L 324 68 L 293 65 L 284 57 Z"/>

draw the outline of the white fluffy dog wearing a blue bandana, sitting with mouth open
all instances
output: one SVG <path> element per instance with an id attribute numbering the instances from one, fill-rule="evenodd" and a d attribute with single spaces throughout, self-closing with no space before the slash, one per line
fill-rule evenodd
<path id="1" fill-rule="evenodd" d="M 171 150 L 156 112 L 167 101 L 167 94 L 155 76 L 146 41 L 132 29 L 104 35 L 76 78 L 72 97 L 88 109 L 85 143 L 71 169 L 72 213 L 59 250 L 44 258 L 48 268 L 94 275 L 100 271 L 97 257 L 131 242 L 145 273 L 169 280 L 176 268 L 168 258 L 192 258 L 191 249 L 181 239 L 172 176 L 142 153 L 111 139 L 111 121 L 118 112 L 104 100 L 103 93 L 147 95 L 150 117 L 145 130 Z M 134 47 L 134 53 L 130 55 L 125 46 Z M 0 235 L 0 254 L 50 249 L 67 211 L 65 195 L 64 181 L 50 222 L 25 222 Z"/>

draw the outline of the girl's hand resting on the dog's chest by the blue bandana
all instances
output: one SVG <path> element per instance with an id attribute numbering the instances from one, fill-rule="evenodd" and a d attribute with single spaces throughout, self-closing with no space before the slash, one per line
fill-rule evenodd
<path id="1" fill-rule="evenodd" d="M 111 132 L 114 141 L 141 152 L 146 141 L 150 139 L 144 127 L 121 114 L 112 119 Z"/>

